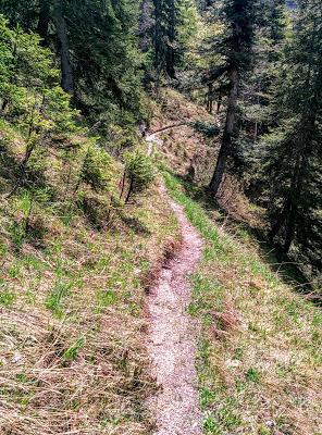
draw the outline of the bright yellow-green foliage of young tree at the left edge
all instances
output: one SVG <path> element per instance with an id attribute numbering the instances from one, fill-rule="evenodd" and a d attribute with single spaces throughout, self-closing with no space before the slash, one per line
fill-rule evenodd
<path id="1" fill-rule="evenodd" d="M 0 40 L 2 115 L 14 123 L 25 140 L 14 192 L 17 187 L 33 187 L 38 183 L 45 170 L 40 162 L 50 154 L 50 148 L 74 147 L 75 135 L 84 134 L 85 129 L 76 124 L 78 112 L 71 109 L 70 96 L 59 86 L 52 54 L 40 47 L 39 36 L 25 34 L 18 27 L 11 30 L 0 16 Z M 34 159 L 35 152 L 38 152 L 37 159 Z M 28 171 L 32 160 L 34 169 Z"/>

